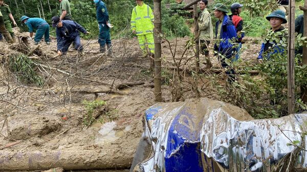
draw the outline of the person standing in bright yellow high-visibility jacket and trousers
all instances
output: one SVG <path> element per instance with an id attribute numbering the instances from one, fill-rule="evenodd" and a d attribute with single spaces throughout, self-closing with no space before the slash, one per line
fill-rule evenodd
<path id="1" fill-rule="evenodd" d="M 143 1 L 137 0 L 137 6 L 131 14 L 131 30 L 137 35 L 139 45 L 144 55 L 153 57 L 155 42 L 153 41 L 153 13 L 151 8 Z"/>

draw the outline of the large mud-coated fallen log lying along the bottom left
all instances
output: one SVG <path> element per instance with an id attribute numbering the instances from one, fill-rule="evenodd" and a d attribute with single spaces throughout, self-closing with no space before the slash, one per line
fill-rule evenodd
<path id="1" fill-rule="evenodd" d="M 128 168 L 132 159 L 119 155 L 121 149 L 49 150 L 26 152 L 0 151 L 0 171 L 37 170 L 62 167 L 70 169 Z"/>

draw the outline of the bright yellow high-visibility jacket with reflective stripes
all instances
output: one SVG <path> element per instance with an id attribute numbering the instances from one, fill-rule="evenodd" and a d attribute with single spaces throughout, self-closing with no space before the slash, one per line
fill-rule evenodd
<path id="1" fill-rule="evenodd" d="M 144 3 L 142 6 L 136 6 L 132 10 L 130 24 L 131 30 L 135 30 L 137 35 L 153 33 L 153 13 L 151 8 Z"/>

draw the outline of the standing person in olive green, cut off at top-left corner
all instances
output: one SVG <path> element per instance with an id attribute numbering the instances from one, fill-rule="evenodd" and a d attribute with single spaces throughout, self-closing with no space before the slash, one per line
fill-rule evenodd
<path id="1" fill-rule="evenodd" d="M 5 28 L 9 31 L 13 41 L 16 42 L 15 34 L 12 30 L 12 25 L 11 25 L 12 23 L 11 23 L 10 19 L 12 20 L 14 27 L 17 27 L 17 23 L 14 20 L 14 17 L 11 13 L 10 7 L 6 4 L 4 4 L 4 0 L 0 0 L 0 11 L 2 12 L 2 15 L 3 15 Z"/>

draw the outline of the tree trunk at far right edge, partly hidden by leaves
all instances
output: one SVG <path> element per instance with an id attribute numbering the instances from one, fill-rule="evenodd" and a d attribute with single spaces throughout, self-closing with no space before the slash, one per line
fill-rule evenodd
<path id="1" fill-rule="evenodd" d="M 303 27 L 304 27 L 304 33 L 303 36 L 307 36 L 307 0 L 305 0 L 304 7 L 299 7 L 300 10 L 304 12 L 304 21 L 303 21 Z M 307 65 L 307 47 L 306 45 L 303 46 L 303 59 L 302 59 L 303 65 Z M 301 87 L 301 99 L 306 104 L 307 103 L 307 86 Z"/>

